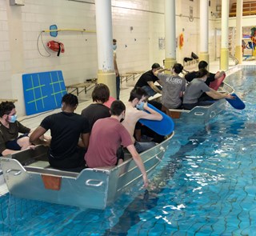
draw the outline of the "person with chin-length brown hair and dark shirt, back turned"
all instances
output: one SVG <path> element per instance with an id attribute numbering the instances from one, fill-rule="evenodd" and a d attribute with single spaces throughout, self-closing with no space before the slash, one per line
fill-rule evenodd
<path id="1" fill-rule="evenodd" d="M 110 90 L 105 84 L 99 83 L 94 87 L 91 97 L 94 103 L 82 110 L 82 117 L 89 121 L 90 130 L 98 119 L 110 117 L 110 108 L 103 105 L 110 98 Z"/>

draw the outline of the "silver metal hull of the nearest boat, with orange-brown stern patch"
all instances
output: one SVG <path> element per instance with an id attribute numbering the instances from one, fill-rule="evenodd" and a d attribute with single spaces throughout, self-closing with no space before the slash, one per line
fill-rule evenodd
<path id="1" fill-rule="evenodd" d="M 162 161 L 170 138 L 141 154 L 148 174 Z M 10 194 L 82 208 L 104 209 L 142 182 L 131 158 L 120 166 L 86 168 L 80 173 L 51 169 L 43 146 L 0 158 L 0 165 Z"/>

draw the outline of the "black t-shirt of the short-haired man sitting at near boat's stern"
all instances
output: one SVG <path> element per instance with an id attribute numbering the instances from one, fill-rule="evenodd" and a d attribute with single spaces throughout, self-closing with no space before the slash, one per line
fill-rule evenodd
<path id="1" fill-rule="evenodd" d="M 89 122 L 80 114 L 60 112 L 44 118 L 40 124 L 50 130 L 50 154 L 54 158 L 69 158 L 77 150 L 80 134 L 90 133 Z"/>

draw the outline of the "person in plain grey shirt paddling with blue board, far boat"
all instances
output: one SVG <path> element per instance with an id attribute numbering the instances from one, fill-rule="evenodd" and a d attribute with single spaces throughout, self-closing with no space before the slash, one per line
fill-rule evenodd
<path id="1" fill-rule="evenodd" d="M 186 110 L 191 110 L 194 106 L 210 106 L 213 104 L 213 101 L 199 101 L 198 99 L 202 95 L 202 93 L 206 93 L 210 98 L 214 99 L 222 99 L 222 98 L 230 98 L 234 99 L 234 97 L 228 93 L 222 94 L 217 92 L 216 90 L 211 89 L 206 85 L 206 79 L 209 76 L 209 72 L 206 69 L 200 69 L 197 74 L 197 78 L 194 78 L 193 81 L 190 82 L 188 86 L 186 86 L 186 90 L 183 98 L 183 107 Z"/>

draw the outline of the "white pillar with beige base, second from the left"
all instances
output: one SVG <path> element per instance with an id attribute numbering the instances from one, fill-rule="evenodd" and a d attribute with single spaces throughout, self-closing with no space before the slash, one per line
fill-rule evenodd
<path id="1" fill-rule="evenodd" d="M 165 67 L 176 63 L 175 0 L 165 0 L 166 60 Z"/>

